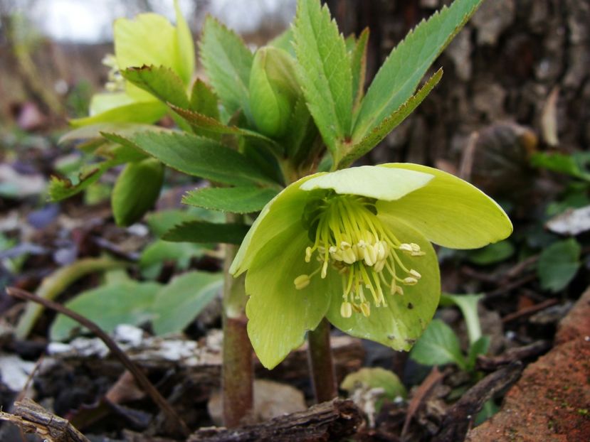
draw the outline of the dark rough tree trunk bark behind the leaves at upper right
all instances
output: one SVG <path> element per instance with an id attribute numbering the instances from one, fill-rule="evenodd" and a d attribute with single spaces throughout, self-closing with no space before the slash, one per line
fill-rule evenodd
<path id="1" fill-rule="evenodd" d="M 370 81 L 413 26 L 451 1 L 327 3 L 345 35 L 371 28 Z M 430 73 L 441 66 L 438 87 L 372 151 L 369 161 L 444 168 L 438 163 L 443 160 L 458 167 L 474 132 L 481 136 L 478 144 L 495 153 L 491 165 L 476 156 L 475 172 L 496 170 L 500 160 L 514 167 L 531 151 L 548 146 L 588 148 L 589 0 L 487 0 Z"/>

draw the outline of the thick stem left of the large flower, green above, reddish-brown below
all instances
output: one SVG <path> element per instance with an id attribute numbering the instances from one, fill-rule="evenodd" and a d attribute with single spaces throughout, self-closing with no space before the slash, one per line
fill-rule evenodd
<path id="1" fill-rule="evenodd" d="M 238 215 L 227 215 L 227 222 L 239 222 Z M 246 291 L 244 278 L 233 278 L 228 269 L 237 247 L 227 244 L 223 270 L 223 423 L 236 427 L 248 421 L 253 409 L 252 346 L 246 332 Z"/>

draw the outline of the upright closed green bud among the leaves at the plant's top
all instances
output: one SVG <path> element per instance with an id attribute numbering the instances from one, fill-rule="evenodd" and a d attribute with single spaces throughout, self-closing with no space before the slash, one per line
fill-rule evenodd
<path id="1" fill-rule="evenodd" d="M 290 55 L 278 48 L 260 48 L 250 75 L 251 110 L 258 130 L 274 138 L 283 136 L 300 93 Z"/>

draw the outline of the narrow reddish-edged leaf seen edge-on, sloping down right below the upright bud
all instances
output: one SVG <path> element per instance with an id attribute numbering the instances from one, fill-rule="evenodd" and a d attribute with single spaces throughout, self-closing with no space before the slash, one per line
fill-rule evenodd
<path id="1" fill-rule="evenodd" d="M 259 134 L 256 131 L 241 129 L 238 126 L 226 126 L 217 119 L 207 117 L 206 115 L 199 114 L 198 112 L 193 112 L 191 110 L 181 109 L 176 106 L 171 106 L 171 108 L 174 110 L 174 112 L 184 118 L 193 129 L 196 129 L 196 133 L 200 132 L 207 138 L 218 139 L 219 135 L 233 135 L 255 138 L 263 141 L 265 146 L 267 146 L 268 149 L 273 151 L 275 154 L 280 155 L 283 153 L 283 146 L 280 146 L 280 144 L 277 142 L 273 141 L 267 136 L 264 136 L 263 134 Z"/>

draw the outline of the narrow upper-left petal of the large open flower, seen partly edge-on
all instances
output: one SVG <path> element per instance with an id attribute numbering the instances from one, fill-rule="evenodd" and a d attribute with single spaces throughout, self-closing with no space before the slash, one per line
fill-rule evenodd
<path id="1" fill-rule="evenodd" d="M 316 174 L 317 175 L 317 174 Z M 268 202 L 246 234 L 236 258 L 233 259 L 229 272 L 238 276 L 248 270 L 252 260 L 266 243 L 294 225 L 301 227 L 301 213 L 305 207 L 307 193 L 300 190 L 301 183 L 313 178 L 306 176 L 289 185 Z M 269 216 L 270 215 L 270 216 Z"/>

